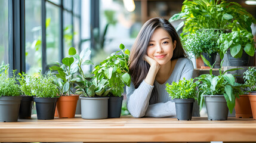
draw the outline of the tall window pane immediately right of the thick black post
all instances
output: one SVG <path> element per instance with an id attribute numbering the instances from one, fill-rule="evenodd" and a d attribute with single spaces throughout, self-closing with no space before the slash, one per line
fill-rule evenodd
<path id="1" fill-rule="evenodd" d="M 54 64 L 59 61 L 59 45 L 60 45 L 60 10 L 53 4 L 46 3 L 46 54 L 47 65 Z"/>

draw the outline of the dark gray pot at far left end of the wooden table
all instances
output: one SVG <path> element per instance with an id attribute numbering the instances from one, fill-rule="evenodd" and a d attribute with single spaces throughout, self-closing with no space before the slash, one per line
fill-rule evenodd
<path id="1" fill-rule="evenodd" d="M 22 97 L 0 97 L 0 122 L 17 122 Z"/>

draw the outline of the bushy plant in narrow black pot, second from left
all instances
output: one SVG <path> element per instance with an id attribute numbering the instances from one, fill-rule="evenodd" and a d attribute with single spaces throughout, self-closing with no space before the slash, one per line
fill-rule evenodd
<path id="1" fill-rule="evenodd" d="M 20 83 L 20 91 L 22 100 L 20 102 L 20 111 L 18 112 L 19 119 L 30 119 L 33 105 L 33 95 L 31 93 L 33 77 L 25 74 L 24 72 L 18 73 L 17 80 Z"/>

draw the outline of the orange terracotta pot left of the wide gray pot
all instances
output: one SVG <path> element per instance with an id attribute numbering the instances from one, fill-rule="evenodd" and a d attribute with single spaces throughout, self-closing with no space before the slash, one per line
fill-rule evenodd
<path id="1" fill-rule="evenodd" d="M 73 118 L 76 113 L 76 104 L 78 102 L 79 95 L 61 95 L 58 98 L 57 110 L 59 118 Z"/>

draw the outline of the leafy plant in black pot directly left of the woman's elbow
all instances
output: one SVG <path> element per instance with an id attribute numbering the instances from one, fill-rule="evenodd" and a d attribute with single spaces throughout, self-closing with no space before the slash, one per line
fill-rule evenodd
<path id="1" fill-rule="evenodd" d="M 121 51 L 112 53 L 92 70 L 97 80 L 101 78 L 106 79 L 108 86 L 112 89 L 109 94 L 109 118 L 121 116 L 124 86 L 129 86 L 131 83 L 131 76 L 129 75 L 129 50 L 125 49 L 122 43 L 119 48 Z M 121 54 L 118 54 L 119 52 Z"/>

